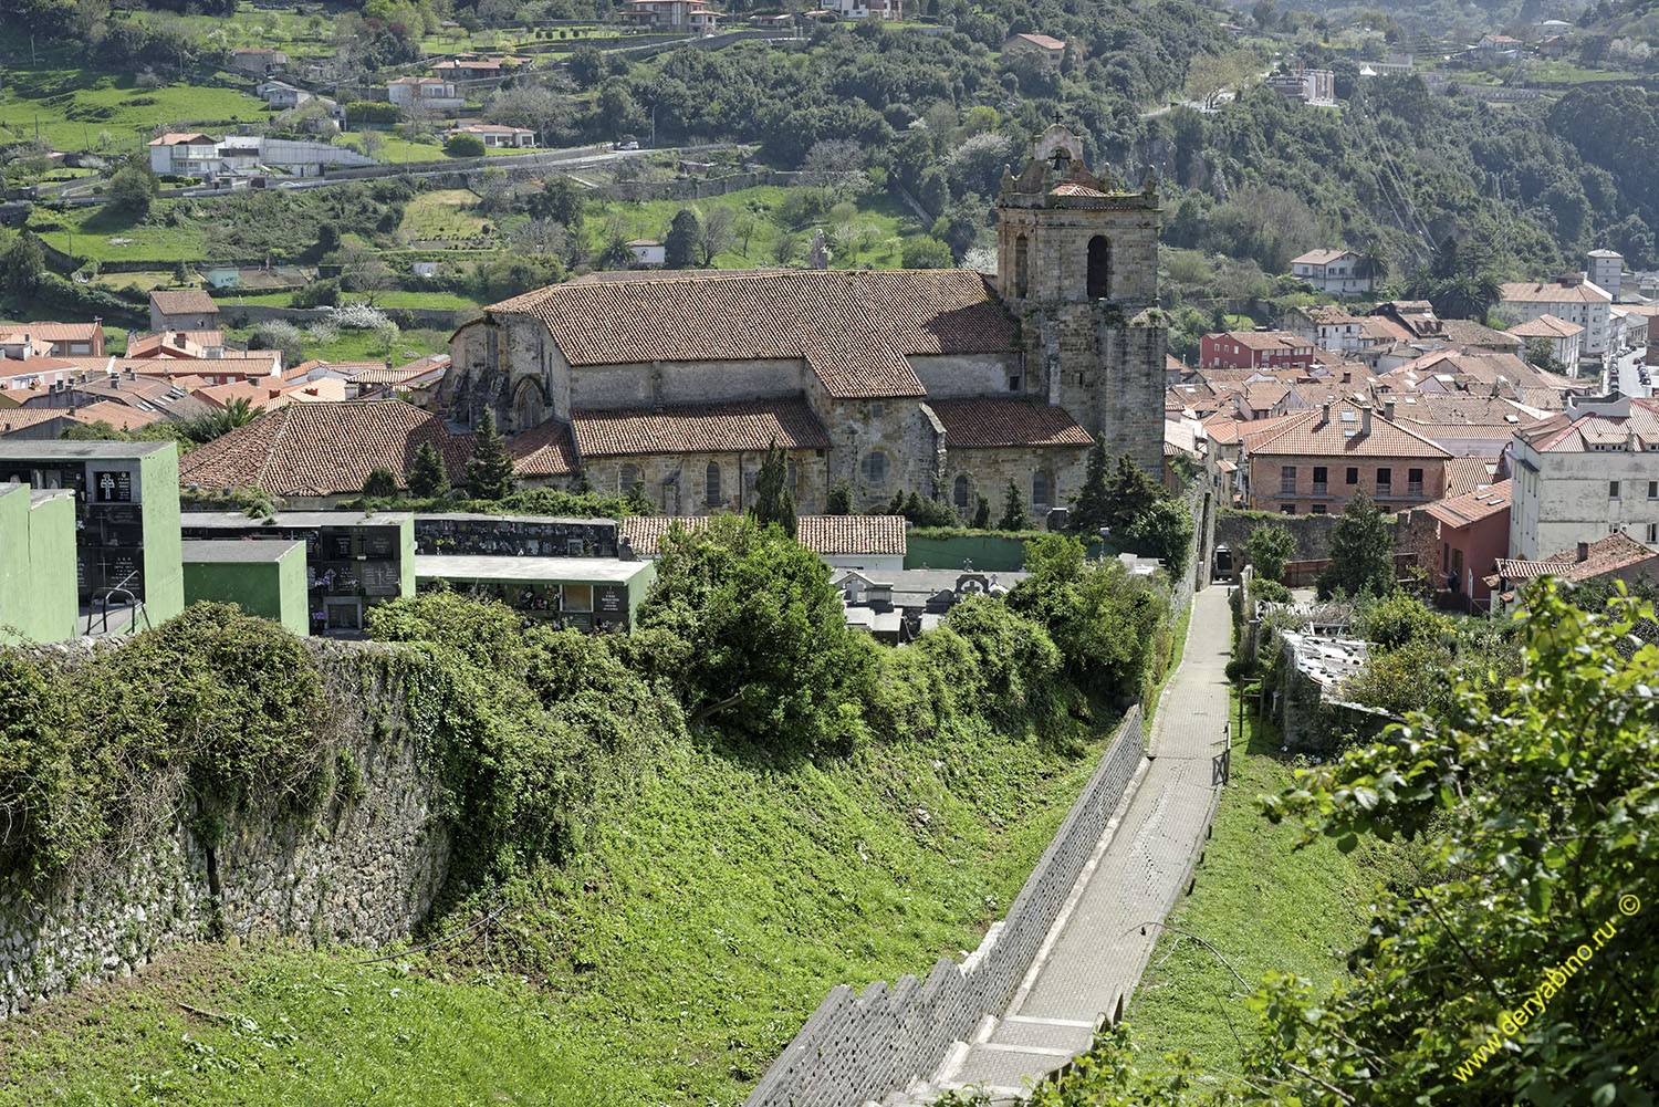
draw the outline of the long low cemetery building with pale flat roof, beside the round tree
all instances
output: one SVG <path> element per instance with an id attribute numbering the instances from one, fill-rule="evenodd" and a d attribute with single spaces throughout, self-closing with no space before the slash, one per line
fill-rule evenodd
<path id="1" fill-rule="evenodd" d="M 652 561 L 614 558 L 415 556 L 421 591 L 450 588 L 498 599 L 534 622 L 589 632 L 632 627 L 655 576 Z"/>

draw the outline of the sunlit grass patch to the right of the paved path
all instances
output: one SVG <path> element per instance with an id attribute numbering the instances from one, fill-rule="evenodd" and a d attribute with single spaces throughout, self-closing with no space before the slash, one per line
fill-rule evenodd
<path id="1" fill-rule="evenodd" d="M 1233 744 L 1233 782 L 1198 885 L 1170 923 L 1219 949 L 1251 984 L 1276 969 L 1331 986 L 1345 976 L 1347 951 L 1370 923 L 1367 905 L 1377 885 L 1410 880 L 1412 865 L 1404 846 L 1374 838 L 1347 855 L 1329 838 L 1296 850 L 1301 831 L 1271 825 L 1254 805 L 1258 795 L 1292 782 L 1292 765 L 1277 749 L 1277 729 L 1258 729 L 1246 717 L 1246 740 Z M 1143 1062 L 1156 1066 L 1153 1059 L 1163 1054 L 1188 1051 L 1204 1069 L 1238 1072 L 1233 1034 L 1246 1041 L 1254 1034 L 1254 1017 L 1239 1002 L 1246 991 L 1213 953 L 1166 931 L 1130 1019 L 1146 1047 Z"/>

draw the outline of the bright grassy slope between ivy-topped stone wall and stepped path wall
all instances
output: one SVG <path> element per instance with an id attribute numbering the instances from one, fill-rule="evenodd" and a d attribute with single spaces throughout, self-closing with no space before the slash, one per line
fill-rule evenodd
<path id="1" fill-rule="evenodd" d="M 776 770 L 680 749 L 577 863 L 509 886 L 488 953 L 405 976 L 182 951 L 0 1024 L 0 1104 L 737 1104 L 833 984 L 974 948 L 1098 753 L 989 739 Z"/>

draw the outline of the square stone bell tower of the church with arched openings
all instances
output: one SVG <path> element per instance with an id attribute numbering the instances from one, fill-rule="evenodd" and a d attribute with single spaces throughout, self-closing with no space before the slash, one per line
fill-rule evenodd
<path id="1" fill-rule="evenodd" d="M 1063 407 L 1112 456 L 1163 473 L 1158 193 L 1083 164 L 1055 123 L 997 194 L 997 292 L 1020 320 L 1027 392 Z"/>

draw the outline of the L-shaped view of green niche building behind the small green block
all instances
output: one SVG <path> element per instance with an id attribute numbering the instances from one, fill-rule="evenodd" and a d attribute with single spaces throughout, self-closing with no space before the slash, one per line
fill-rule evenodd
<path id="1" fill-rule="evenodd" d="M 299 541 L 305 546 L 305 617 L 312 634 L 358 637 L 375 604 L 415 594 L 415 516 L 408 511 L 189 511 L 191 541 Z"/>

